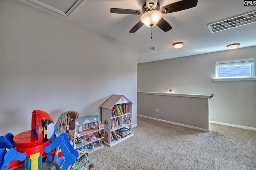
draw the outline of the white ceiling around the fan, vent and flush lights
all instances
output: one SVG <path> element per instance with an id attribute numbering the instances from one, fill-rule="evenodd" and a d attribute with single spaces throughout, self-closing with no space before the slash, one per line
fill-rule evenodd
<path id="1" fill-rule="evenodd" d="M 64 18 L 98 33 L 135 47 L 138 63 L 184 57 L 228 50 L 226 45 L 240 43 L 238 48 L 256 46 L 256 23 L 210 33 L 207 24 L 256 10 L 256 6 L 244 6 L 244 0 L 198 0 L 194 8 L 163 14 L 172 29 L 143 25 L 136 33 L 130 29 L 140 21 L 140 15 L 112 14 L 110 8 L 141 10 L 145 0 L 84 0 L 69 16 L 62 16 L 42 8 L 28 0 L 18 0 Z M 69 0 L 74 1 L 74 0 Z M 179 0 L 158 0 L 165 6 Z M 184 42 L 181 49 L 173 43 Z M 150 48 L 157 47 L 157 50 Z"/>

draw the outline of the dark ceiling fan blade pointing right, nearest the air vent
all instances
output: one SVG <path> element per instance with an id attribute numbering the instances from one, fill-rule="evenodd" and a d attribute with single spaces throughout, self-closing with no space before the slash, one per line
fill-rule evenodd
<path id="1" fill-rule="evenodd" d="M 177 11 L 186 10 L 188 8 L 193 8 L 196 5 L 197 5 L 197 0 L 181 0 L 166 6 L 162 6 L 160 8 L 160 12 L 162 12 L 162 14 L 168 14 L 171 12 L 177 12 Z"/>

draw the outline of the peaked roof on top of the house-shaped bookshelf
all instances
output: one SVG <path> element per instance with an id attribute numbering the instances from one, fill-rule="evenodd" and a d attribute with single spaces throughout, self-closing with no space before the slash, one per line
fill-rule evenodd
<path id="1" fill-rule="evenodd" d="M 100 107 L 103 107 L 103 108 L 106 108 L 106 109 L 111 109 L 115 104 L 123 104 L 123 103 L 131 103 L 131 104 L 133 104 L 124 95 L 113 94 Z"/>

